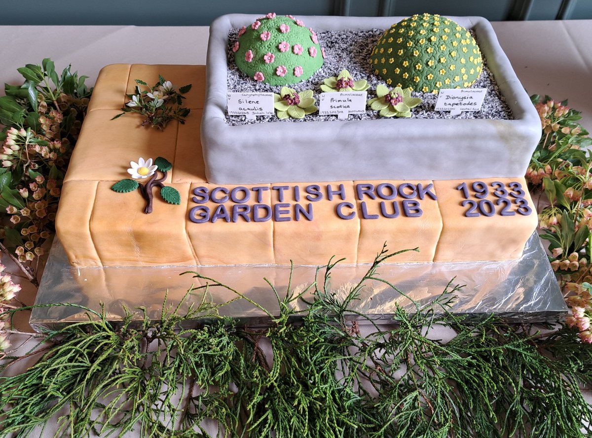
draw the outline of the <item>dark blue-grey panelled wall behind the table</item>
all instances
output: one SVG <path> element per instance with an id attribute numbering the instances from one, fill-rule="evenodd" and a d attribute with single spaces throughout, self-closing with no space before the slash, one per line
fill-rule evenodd
<path id="1" fill-rule="evenodd" d="M 592 18 L 592 0 L 0 0 L 0 25 L 209 25 L 219 15 L 480 15 L 490 21 Z"/>

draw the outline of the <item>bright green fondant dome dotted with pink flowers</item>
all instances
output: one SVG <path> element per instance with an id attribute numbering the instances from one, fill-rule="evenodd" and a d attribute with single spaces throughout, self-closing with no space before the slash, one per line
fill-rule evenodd
<path id="1" fill-rule="evenodd" d="M 302 82 L 323 66 L 317 34 L 292 15 L 259 17 L 239 31 L 232 50 L 242 73 L 269 85 Z"/>

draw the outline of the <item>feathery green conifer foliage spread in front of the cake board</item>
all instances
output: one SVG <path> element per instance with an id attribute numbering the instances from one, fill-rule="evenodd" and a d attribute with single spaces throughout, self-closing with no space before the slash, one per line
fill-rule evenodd
<path id="1" fill-rule="evenodd" d="M 268 314 L 267 329 L 218 316 L 207 297 L 232 289 L 198 274 L 207 284 L 186 297 L 197 304 L 165 302 L 156 322 L 143 309 L 139 323 L 129 311 L 114 323 L 104 310 L 87 309 L 89 322 L 47 333 L 24 374 L 10 377 L 18 358 L 1 366 L 0 436 L 28 436 L 49 421 L 58 422 L 57 436 L 73 437 L 132 429 L 142 437 L 233 438 L 592 432 L 592 408 L 579 389 L 592 381 L 592 346 L 576 330 L 452 314 L 453 283 L 414 312 L 399 308 L 394 325 L 374 325 L 353 309 L 377 281 L 396 290 L 377 274 L 389 257 L 381 252 L 344 293 L 330 287 L 333 261 L 309 287 L 290 281 L 280 291 L 270 283 L 278 313 L 235 291 Z M 200 326 L 187 328 L 198 317 Z M 456 336 L 435 339 L 439 326 Z"/>

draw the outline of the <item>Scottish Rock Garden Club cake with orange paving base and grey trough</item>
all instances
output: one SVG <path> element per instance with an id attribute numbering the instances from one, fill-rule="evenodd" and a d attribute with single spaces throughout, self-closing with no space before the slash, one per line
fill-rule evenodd
<path id="1" fill-rule="evenodd" d="M 433 36 L 435 22 L 440 23 L 433 17 L 427 38 Z M 417 22 L 422 18 L 417 16 Z M 388 46 L 388 35 L 407 26 L 403 21 L 227 15 L 211 26 L 207 69 L 145 64 L 102 69 L 56 219 L 70 264 L 319 265 L 333 255 L 345 258 L 346 264 L 365 264 L 385 241 L 391 249 L 419 248 L 401 254 L 397 262 L 519 258 L 537 225 L 523 175 L 540 137 L 540 122 L 484 19 L 441 22 L 443 29 L 450 22 L 452 30 L 464 26 L 474 32 L 476 40 L 464 34 L 458 38 L 478 51 L 471 61 L 475 70 L 481 52 L 486 57 L 513 119 L 305 117 L 314 111 L 305 99 L 318 98 L 321 84 L 356 90 L 370 82 L 353 81 L 338 71 L 314 93 L 295 90 L 295 81 L 314 81 L 322 71 L 317 61 L 339 50 L 323 47 L 317 33 L 386 29 L 376 46 L 368 47 L 372 69 L 374 59 L 381 62 L 375 56 L 381 50 L 400 50 Z M 229 37 L 233 29 L 238 30 L 236 41 Z M 295 30 L 298 34 L 291 34 Z M 236 66 L 247 80 L 279 92 L 277 121 L 229 124 L 229 52 L 246 61 Z M 301 56 L 312 59 L 300 65 Z M 247 65 L 249 59 L 259 64 Z M 430 59 L 424 60 L 426 66 Z M 275 66 L 276 60 L 282 64 Z M 448 60 L 442 64 L 448 70 L 453 65 Z M 377 96 L 369 100 L 368 111 L 394 108 L 397 115 L 411 115 L 413 99 L 419 98 L 411 96 L 407 85 L 389 83 L 391 73 L 380 79 L 392 87 L 389 94 L 378 86 L 368 90 Z M 128 103 L 127 95 L 134 94 L 135 79 L 155 83 L 160 75 L 175 85 L 193 84 L 185 95 L 191 113 L 184 124 L 169 122 L 158 131 L 141 126 L 139 115 L 112 120 Z M 460 85 L 448 85 L 469 86 L 470 80 L 467 76 Z M 418 86 L 431 93 L 431 84 L 445 88 L 438 82 Z M 388 105 L 382 105 L 387 98 Z M 372 106 L 377 100 L 379 105 Z M 301 120 L 280 121 L 284 116 Z"/>

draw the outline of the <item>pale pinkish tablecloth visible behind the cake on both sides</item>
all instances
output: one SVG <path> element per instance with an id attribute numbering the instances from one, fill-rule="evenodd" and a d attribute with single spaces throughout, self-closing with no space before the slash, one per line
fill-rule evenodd
<path id="1" fill-rule="evenodd" d="M 492 24 L 527 92 L 555 100 L 569 99 L 569 105 L 582 112 L 581 124 L 592 131 L 592 20 Z M 89 76 L 86 83 L 92 86 L 99 70 L 107 64 L 205 64 L 209 29 L 0 26 L 0 34 L 0 83 L 22 83 L 18 67 L 50 57 L 59 71 L 71 63 L 73 71 Z M 32 304 L 34 290 L 25 287 L 20 299 Z M 27 319 L 22 315 L 17 320 L 18 328 L 30 330 Z M 18 338 L 11 338 L 13 345 L 21 342 Z"/>

